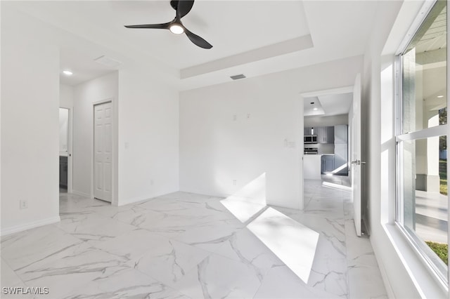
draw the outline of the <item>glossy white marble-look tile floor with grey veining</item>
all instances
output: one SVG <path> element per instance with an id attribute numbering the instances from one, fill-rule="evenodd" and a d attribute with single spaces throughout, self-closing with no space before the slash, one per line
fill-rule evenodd
<path id="1" fill-rule="evenodd" d="M 1 286 L 49 294 L 1 298 L 387 298 L 350 194 L 333 183 L 306 181 L 304 211 L 257 207 L 243 222 L 198 194 L 115 207 L 61 193 L 61 222 L 1 238 Z M 306 260 L 303 249 L 276 232 L 318 235 L 306 282 L 289 265 Z"/>

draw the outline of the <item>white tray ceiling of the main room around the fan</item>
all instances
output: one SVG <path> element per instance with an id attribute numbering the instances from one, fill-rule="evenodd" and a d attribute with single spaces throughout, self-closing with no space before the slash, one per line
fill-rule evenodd
<path id="1" fill-rule="evenodd" d="M 77 85 L 134 60 L 165 67 L 180 89 L 189 89 L 231 81 L 234 74 L 255 77 L 362 55 L 375 11 L 383 2 L 197 0 L 183 22 L 214 46 L 210 50 L 193 45 L 184 34 L 123 27 L 172 20 L 175 11 L 168 0 L 2 1 L 2 5 L 86 40 L 76 48 L 62 45 L 61 71 L 74 71 L 70 78 L 61 77 L 64 84 Z M 101 55 L 122 65 L 94 62 Z M 191 75 L 180 76 L 186 73 Z"/>

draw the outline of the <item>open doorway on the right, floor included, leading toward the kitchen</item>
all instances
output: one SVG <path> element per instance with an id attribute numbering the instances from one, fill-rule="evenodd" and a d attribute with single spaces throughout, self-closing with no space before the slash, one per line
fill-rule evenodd
<path id="1" fill-rule="evenodd" d="M 303 93 L 302 98 L 304 210 L 352 217 L 354 86 Z"/>

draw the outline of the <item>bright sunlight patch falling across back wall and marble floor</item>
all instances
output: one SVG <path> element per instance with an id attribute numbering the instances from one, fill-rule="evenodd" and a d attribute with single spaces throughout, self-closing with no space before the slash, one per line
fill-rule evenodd
<path id="1" fill-rule="evenodd" d="M 266 173 L 221 200 L 221 204 L 241 222 L 250 222 L 247 225 L 250 232 L 302 281 L 308 282 L 319 233 L 267 207 Z"/>

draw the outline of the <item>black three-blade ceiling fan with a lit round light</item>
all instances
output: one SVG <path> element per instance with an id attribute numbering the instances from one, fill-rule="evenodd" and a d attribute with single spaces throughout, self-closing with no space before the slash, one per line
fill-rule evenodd
<path id="1" fill-rule="evenodd" d="M 148 24 L 148 25 L 125 25 L 127 28 L 143 28 L 143 29 L 169 29 L 170 32 L 174 34 L 182 34 L 186 33 L 188 39 L 190 39 L 193 44 L 199 46 L 200 48 L 210 49 L 212 45 L 202 39 L 197 34 L 193 34 L 186 27 L 184 27 L 181 22 L 181 18 L 191 11 L 192 6 L 194 5 L 194 0 L 172 0 L 170 1 L 170 5 L 176 11 L 176 15 L 174 20 L 162 23 L 162 24 Z"/>

